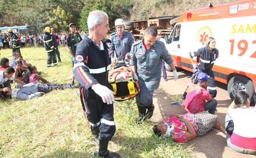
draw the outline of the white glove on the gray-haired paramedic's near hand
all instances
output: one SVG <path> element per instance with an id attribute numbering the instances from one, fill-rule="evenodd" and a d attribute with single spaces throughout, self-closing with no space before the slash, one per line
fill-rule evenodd
<path id="1" fill-rule="evenodd" d="M 109 90 L 108 87 L 99 83 L 92 86 L 92 90 L 98 94 L 104 103 L 112 104 L 114 101 L 114 92 Z"/>

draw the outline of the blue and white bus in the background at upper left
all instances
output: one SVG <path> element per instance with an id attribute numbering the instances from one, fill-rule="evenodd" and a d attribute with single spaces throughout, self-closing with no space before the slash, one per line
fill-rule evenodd
<path id="1" fill-rule="evenodd" d="M 13 33 L 15 34 L 22 34 L 22 35 L 27 35 L 30 33 L 31 35 L 35 35 L 38 33 L 37 27 L 36 26 L 12 26 L 12 27 L 0 27 L 0 35 L 3 34 L 8 34 L 7 30 L 11 28 Z"/>

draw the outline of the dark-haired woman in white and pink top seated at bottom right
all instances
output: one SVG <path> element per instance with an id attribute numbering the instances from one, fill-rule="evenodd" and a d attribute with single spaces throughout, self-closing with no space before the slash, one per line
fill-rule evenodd
<path id="1" fill-rule="evenodd" d="M 231 135 L 227 133 L 226 139 L 231 149 L 239 153 L 256 155 L 256 112 L 249 107 L 250 103 L 247 92 L 237 92 L 225 117 L 225 127 L 229 120 L 233 120 L 234 123 L 234 131 Z"/>

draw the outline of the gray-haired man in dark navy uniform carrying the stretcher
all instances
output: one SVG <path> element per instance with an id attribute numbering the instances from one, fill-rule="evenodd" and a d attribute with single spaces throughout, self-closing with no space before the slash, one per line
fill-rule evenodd
<path id="1" fill-rule="evenodd" d="M 107 42 L 109 19 L 105 12 L 95 10 L 89 13 L 89 35 L 76 47 L 73 73 L 80 83 L 80 98 L 85 119 L 99 151 L 94 156 L 118 158 L 118 153 L 107 150 L 109 141 L 116 131 L 114 122 L 114 92 L 108 82 L 108 71 L 111 64 Z"/>

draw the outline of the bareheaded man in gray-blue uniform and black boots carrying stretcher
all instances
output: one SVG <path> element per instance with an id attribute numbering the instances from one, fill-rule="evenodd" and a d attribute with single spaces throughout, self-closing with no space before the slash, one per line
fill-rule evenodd
<path id="1" fill-rule="evenodd" d="M 137 74 L 134 78 L 138 80 L 140 86 L 140 93 L 136 97 L 139 111 L 138 123 L 153 115 L 153 93 L 159 87 L 161 80 L 162 59 L 171 66 L 173 78 L 177 80 L 178 73 L 173 59 L 168 56 L 164 43 L 157 40 L 157 29 L 150 26 L 146 29 L 144 38 L 134 42 L 130 51 L 130 66 Z"/>

